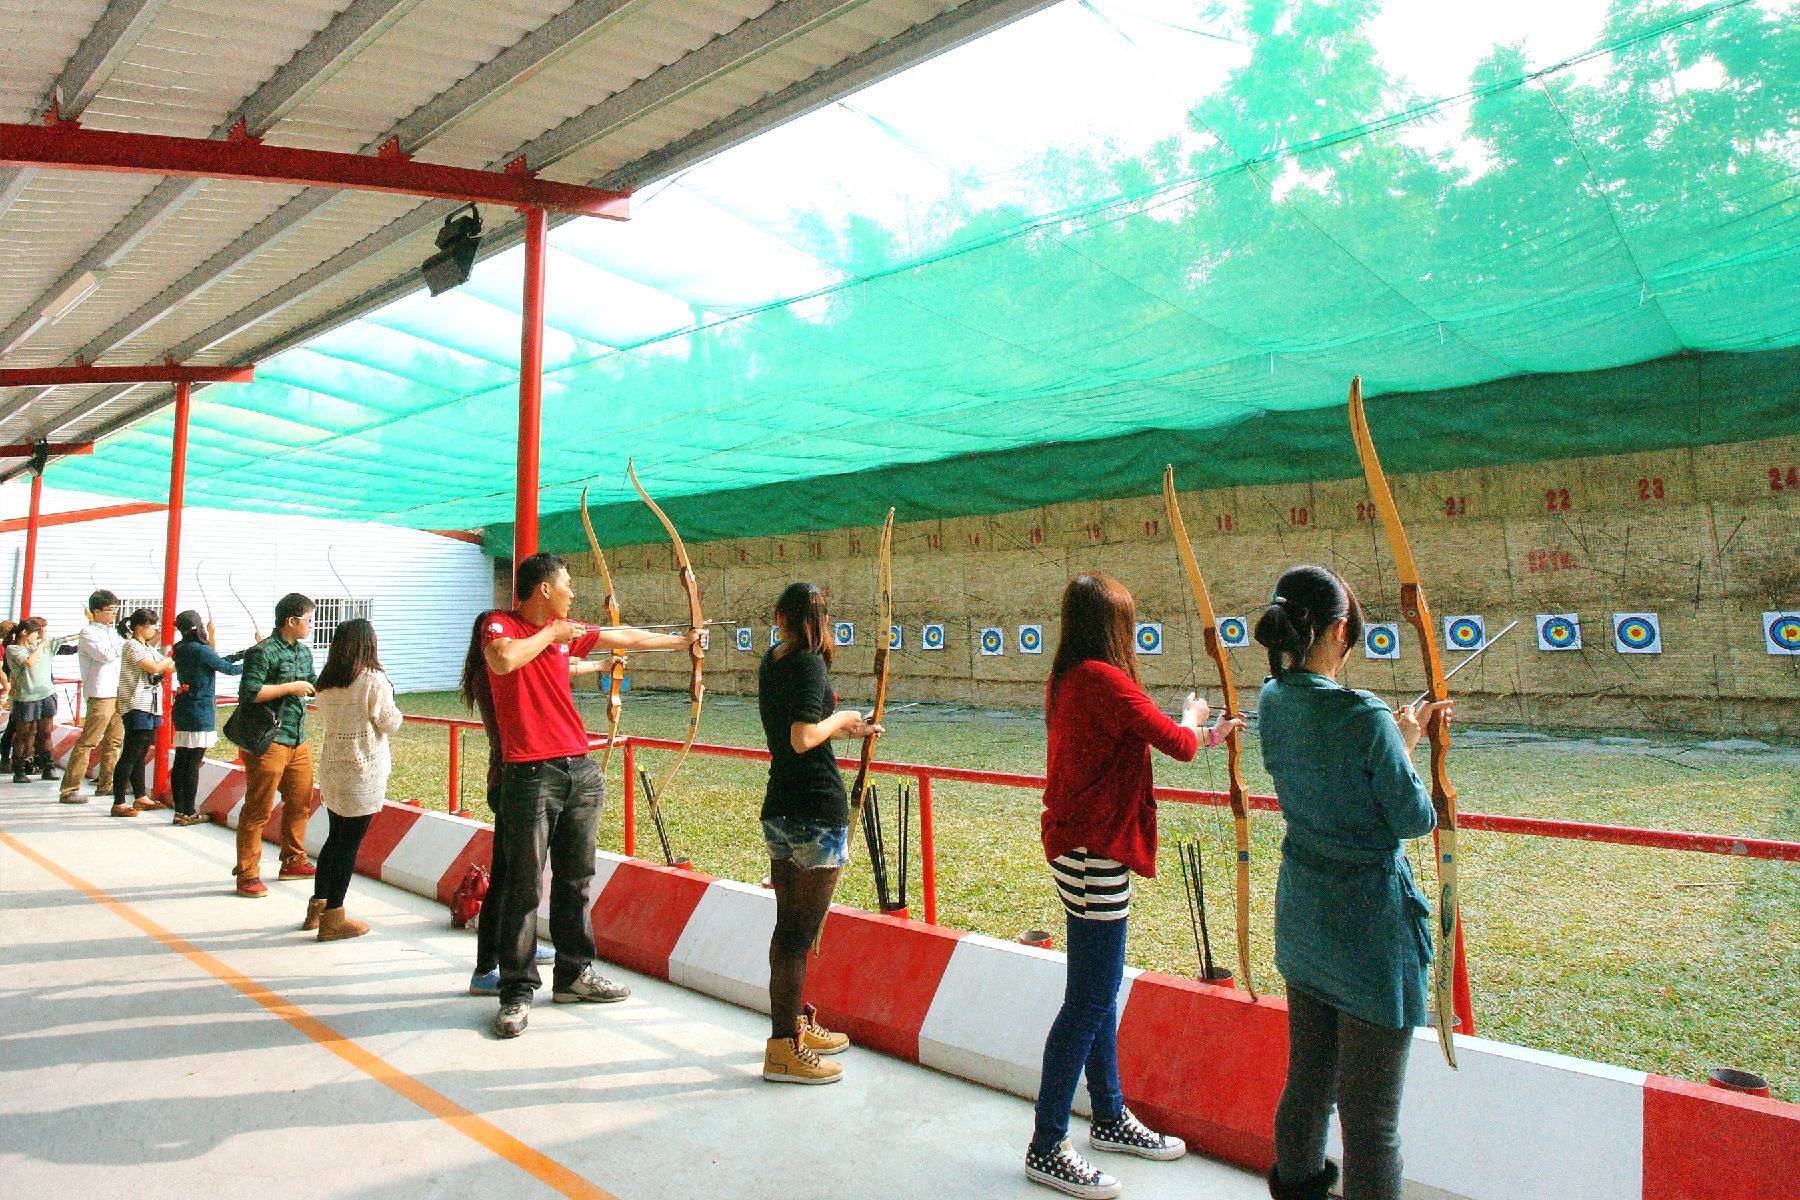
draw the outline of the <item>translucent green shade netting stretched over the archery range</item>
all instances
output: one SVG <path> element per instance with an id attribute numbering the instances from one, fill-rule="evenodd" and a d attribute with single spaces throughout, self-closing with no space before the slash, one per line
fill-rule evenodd
<path id="1" fill-rule="evenodd" d="M 704 536 L 860 520 L 830 506 L 886 479 L 914 515 L 1096 495 L 1163 443 L 1186 488 L 1343 475 L 1352 374 L 1440 398 L 1418 466 L 1534 457 L 1546 421 L 1638 448 L 1658 403 L 1751 392 L 1678 432 L 1786 432 L 1796 99 L 1793 2 L 1064 4 L 558 227 L 540 507 L 592 484 L 607 540 L 653 536 L 626 457 Z M 495 255 L 200 392 L 187 500 L 504 547 L 520 277 Z M 1681 356 L 1750 392 L 1604 374 Z M 54 482 L 160 498 L 169 434 Z"/>

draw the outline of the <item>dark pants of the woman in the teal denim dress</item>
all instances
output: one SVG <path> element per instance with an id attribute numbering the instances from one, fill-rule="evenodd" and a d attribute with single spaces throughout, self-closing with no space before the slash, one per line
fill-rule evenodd
<path id="1" fill-rule="evenodd" d="M 1345 1200 L 1400 1200 L 1400 1092 L 1411 1029 L 1388 1029 L 1287 990 L 1287 1087 L 1274 1110 L 1285 1182 L 1325 1169 L 1325 1130 L 1345 1132 Z"/>

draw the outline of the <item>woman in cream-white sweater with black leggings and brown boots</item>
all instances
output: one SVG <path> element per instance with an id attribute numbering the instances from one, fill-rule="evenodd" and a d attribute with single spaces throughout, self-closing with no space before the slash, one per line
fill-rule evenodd
<path id="1" fill-rule="evenodd" d="M 331 819 L 313 898 L 301 928 L 317 928 L 319 941 L 360 937 L 364 921 L 344 916 L 344 894 L 356 873 L 356 847 L 387 797 L 394 759 L 387 739 L 401 723 L 394 685 L 374 655 L 374 626 L 356 617 L 331 635 L 331 651 L 317 684 L 324 748 L 319 756 L 319 792 Z"/>

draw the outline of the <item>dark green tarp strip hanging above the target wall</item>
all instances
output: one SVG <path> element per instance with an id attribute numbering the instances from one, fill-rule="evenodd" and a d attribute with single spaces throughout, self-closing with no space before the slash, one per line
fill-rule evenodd
<path id="1" fill-rule="evenodd" d="M 1631 367 L 1496 380 L 1370 399 L 1390 473 L 1507 466 L 1674 450 L 1800 434 L 1800 349 L 1676 354 Z M 1348 389 L 1348 380 L 1345 381 Z M 1361 475 L 1343 407 L 1262 412 L 1199 432 L 1152 430 L 940 462 L 659 497 L 686 542 L 761 538 L 898 520 L 1015 513 L 1048 504 L 1147 497 L 1174 462 L 1183 491 Z M 643 504 L 594 509 L 603 547 L 661 542 Z M 576 511 L 540 516 L 545 551 L 587 551 Z M 482 531 L 504 558 L 513 527 Z"/>

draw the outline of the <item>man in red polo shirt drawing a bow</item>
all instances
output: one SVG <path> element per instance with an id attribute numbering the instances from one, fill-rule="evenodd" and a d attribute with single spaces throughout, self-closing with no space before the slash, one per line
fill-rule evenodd
<path id="1" fill-rule="evenodd" d="M 688 635 L 648 630 L 594 630 L 572 624 L 574 588 L 558 554 L 518 563 L 518 608 L 495 612 L 482 630 L 488 685 L 500 730 L 500 792 L 493 810 L 497 844 L 506 855 L 499 896 L 500 1013 L 493 1033 L 526 1031 L 531 995 L 542 984 L 533 963 L 544 860 L 551 864 L 551 941 L 558 1004 L 623 1000 L 623 984 L 594 972 L 594 930 L 587 923 L 587 885 L 594 878 L 594 833 L 607 781 L 587 757 L 587 729 L 574 707 L 569 664 L 596 649 L 686 649 Z"/>

